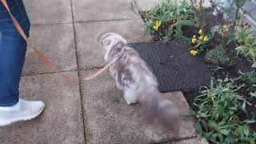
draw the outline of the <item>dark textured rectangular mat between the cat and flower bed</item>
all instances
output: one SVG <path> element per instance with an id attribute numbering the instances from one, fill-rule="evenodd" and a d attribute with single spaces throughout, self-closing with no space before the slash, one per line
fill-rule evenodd
<path id="1" fill-rule="evenodd" d="M 191 90 L 210 83 L 210 71 L 204 62 L 190 55 L 190 45 L 182 42 L 130 43 L 152 68 L 159 90 Z"/>

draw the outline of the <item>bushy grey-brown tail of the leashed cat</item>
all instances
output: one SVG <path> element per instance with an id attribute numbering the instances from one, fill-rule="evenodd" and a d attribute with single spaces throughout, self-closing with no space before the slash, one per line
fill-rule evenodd
<path id="1" fill-rule="evenodd" d="M 162 98 L 158 90 L 147 90 L 139 102 L 146 108 L 150 118 L 153 118 L 167 130 L 178 134 L 180 116 L 178 107 L 174 105 L 174 102 Z"/>

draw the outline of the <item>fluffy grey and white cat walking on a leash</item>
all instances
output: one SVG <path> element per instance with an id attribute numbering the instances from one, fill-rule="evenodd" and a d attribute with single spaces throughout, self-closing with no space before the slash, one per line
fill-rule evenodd
<path id="1" fill-rule="evenodd" d="M 127 104 L 140 102 L 150 114 L 150 118 L 178 134 L 178 108 L 173 102 L 161 97 L 157 78 L 146 62 L 133 48 L 127 46 L 126 39 L 118 34 L 104 34 L 100 44 L 105 61 L 114 60 L 110 66 L 110 74 L 118 89 L 123 90 Z"/>

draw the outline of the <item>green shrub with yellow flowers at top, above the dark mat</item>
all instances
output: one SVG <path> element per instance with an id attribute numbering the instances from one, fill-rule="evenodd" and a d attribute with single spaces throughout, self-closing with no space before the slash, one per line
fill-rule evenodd
<path id="1" fill-rule="evenodd" d="M 184 26 L 195 26 L 195 14 L 190 2 L 166 0 L 145 14 L 146 33 L 154 40 L 168 41 L 172 38 L 186 38 Z"/>

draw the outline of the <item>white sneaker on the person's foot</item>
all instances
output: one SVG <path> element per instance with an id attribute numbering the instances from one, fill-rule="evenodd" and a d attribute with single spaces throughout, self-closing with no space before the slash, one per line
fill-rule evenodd
<path id="1" fill-rule="evenodd" d="M 35 118 L 42 113 L 44 106 L 41 101 L 26 101 L 22 98 L 14 106 L 0 106 L 0 126 Z"/>

